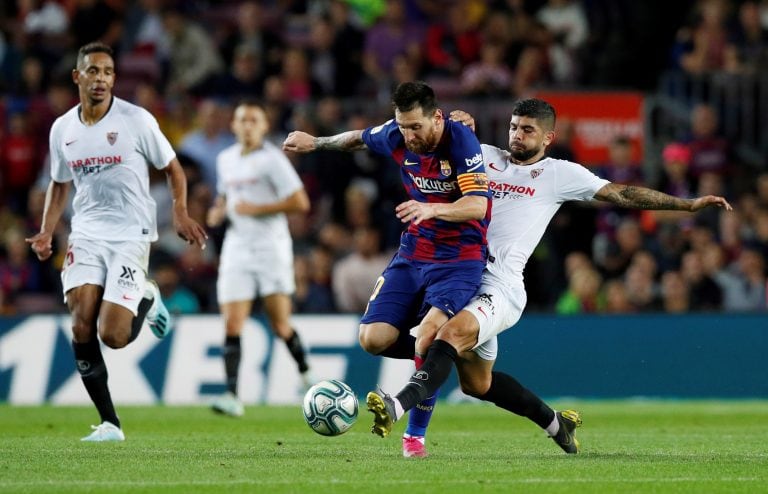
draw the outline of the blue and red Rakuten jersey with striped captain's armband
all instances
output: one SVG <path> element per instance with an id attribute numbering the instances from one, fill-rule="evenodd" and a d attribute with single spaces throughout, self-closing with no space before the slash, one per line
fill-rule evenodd
<path id="1" fill-rule="evenodd" d="M 486 259 L 491 200 L 480 142 L 469 127 L 446 119 L 437 148 L 428 154 L 409 151 L 394 120 L 365 129 L 363 142 L 372 151 L 395 160 L 405 191 L 415 201 L 452 203 L 465 195 L 488 199 L 482 220 L 431 218 L 418 225 L 411 223 L 400 239 L 401 256 L 428 262 Z"/>

